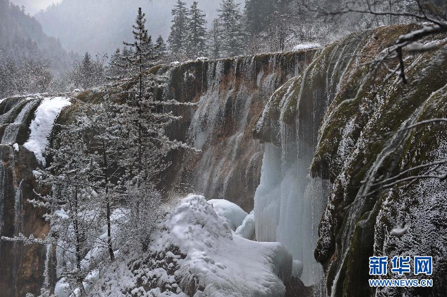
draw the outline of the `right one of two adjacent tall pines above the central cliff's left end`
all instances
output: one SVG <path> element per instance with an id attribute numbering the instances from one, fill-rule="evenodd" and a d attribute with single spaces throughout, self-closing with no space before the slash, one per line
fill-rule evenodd
<path id="1" fill-rule="evenodd" d="M 190 57 L 205 54 L 205 36 L 207 33 L 205 17 L 206 14 L 198 7 L 198 2 L 194 1 L 189 9 L 188 19 L 187 53 Z"/>

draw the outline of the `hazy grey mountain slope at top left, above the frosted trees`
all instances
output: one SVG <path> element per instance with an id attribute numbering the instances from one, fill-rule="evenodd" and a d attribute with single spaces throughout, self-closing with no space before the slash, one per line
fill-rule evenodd
<path id="1" fill-rule="evenodd" d="M 57 38 L 47 36 L 39 22 L 19 6 L 0 0 L 0 58 L 16 63 L 25 59 L 46 59 L 54 70 L 64 70 L 72 62 Z"/>

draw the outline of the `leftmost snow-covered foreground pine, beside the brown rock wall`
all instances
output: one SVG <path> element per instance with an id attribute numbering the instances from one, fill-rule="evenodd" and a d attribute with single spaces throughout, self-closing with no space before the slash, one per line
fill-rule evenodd
<path id="1" fill-rule="evenodd" d="M 103 222 L 101 201 L 92 195 L 99 188 L 89 184 L 92 168 L 83 140 L 82 122 L 69 124 L 55 135 L 53 148 L 47 151 L 51 165 L 39 176 L 41 192 L 51 190 L 50 194 L 38 194 L 40 199 L 30 201 L 35 207 L 48 209 L 46 220 L 51 229 L 42 243 L 56 246 L 61 276 L 72 290 L 79 288 L 81 296 L 85 296 L 82 281 L 90 271 L 84 256 L 95 245 L 105 245 L 97 234 Z"/>

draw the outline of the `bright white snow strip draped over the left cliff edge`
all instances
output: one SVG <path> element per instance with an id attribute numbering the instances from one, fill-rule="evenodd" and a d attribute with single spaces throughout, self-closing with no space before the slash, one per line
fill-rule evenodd
<path id="1" fill-rule="evenodd" d="M 49 143 L 49 136 L 53 125 L 62 109 L 71 105 L 70 99 L 66 97 L 44 98 L 35 112 L 35 118 L 31 121 L 29 129 L 31 133 L 28 141 L 23 147 L 34 152 L 36 159 L 46 165 L 43 152 Z"/>

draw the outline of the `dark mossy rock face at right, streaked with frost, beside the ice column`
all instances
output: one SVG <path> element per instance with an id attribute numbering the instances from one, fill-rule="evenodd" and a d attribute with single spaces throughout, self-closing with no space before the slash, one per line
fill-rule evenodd
<path id="1" fill-rule="evenodd" d="M 413 182 L 408 187 L 401 187 L 404 186 L 401 183 L 392 191 L 365 196 L 377 189 L 373 185 L 375 180 L 446 157 L 445 124 L 392 133 L 421 120 L 447 116 L 446 36 L 423 41 L 436 44 L 436 50 L 404 53 L 407 85 L 394 77 L 384 81 L 383 71 L 374 75 L 372 69 L 361 66 L 366 62 L 361 57 L 377 55 L 410 29 L 409 26 L 393 26 L 392 30 L 376 28 L 338 42 L 349 47 L 351 40 L 357 38 L 349 56 L 358 58 L 335 81 L 338 87 L 323 119 L 311 165 L 314 176 L 328 178 L 333 184 L 315 249 L 316 259 L 326 268 L 331 296 L 446 294 L 447 269 L 441 255 L 446 252 L 447 241 L 444 223 L 437 219 L 446 215 L 446 183 L 433 179 Z M 401 177 L 422 174 L 428 168 Z M 446 168 L 440 170 L 445 172 Z M 405 234 L 390 233 L 403 224 L 408 227 Z M 396 255 L 420 254 L 434 257 L 433 288 L 424 292 L 369 288 L 370 256 L 391 259 Z M 386 278 L 393 277 L 389 273 Z"/>

